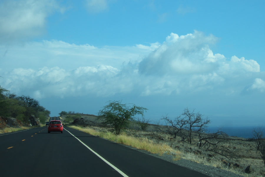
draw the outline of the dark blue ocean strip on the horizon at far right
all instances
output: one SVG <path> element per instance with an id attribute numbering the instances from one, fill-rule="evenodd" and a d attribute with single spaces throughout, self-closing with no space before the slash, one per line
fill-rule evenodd
<path id="1" fill-rule="evenodd" d="M 258 126 L 223 126 L 221 127 L 208 127 L 208 130 L 210 132 L 216 132 L 218 129 L 220 131 L 225 132 L 229 136 L 235 136 L 235 137 L 243 137 L 243 138 L 251 138 L 253 137 L 253 129 L 258 128 Z M 264 127 L 261 127 L 261 130 L 264 129 Z M 263 130 L 265 134 L 265 129 Z"/>

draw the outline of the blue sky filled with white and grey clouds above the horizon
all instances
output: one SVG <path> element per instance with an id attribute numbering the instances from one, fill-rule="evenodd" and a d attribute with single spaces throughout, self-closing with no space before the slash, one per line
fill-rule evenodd
<path id="1" fill-rule="evenodd" d="M 265 125 L 265 1 L 1 0 L 0 86 L 61 111 L 108 101 Z M 136 116 L 137 117 L 137 116 Z"/>

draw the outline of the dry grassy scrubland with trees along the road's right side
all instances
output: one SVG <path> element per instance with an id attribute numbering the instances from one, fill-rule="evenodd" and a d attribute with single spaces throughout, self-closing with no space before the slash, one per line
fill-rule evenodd
<path id="1" fill-rule="evenodd" d="M 208 117 L 188 108 L 185 108 L 182 114 L 173 119 L 163 116 L 160 122 L 150 124 L 150 120 L 143 116 L 147 109 L 140 107 L 142 108 L 139 112 L 141 118 L 133 117 L 137 114 L 127 117 L 126 124 L 118 127 L 119 130 L 115 127 L 118 124 L 115 124 L 113 120 L 124 120 L 123 113 L 129 112 L 132 106 L 121 104 L 121 101 L 109 101 L 108 103 L 100 110 L 104 114 L 95 116 L 97 121 L 101 121 L 100 126 L 89 124 L 72 126 L 69 124 L 70 127 L 151 153 L 170 154 L 172 160 L 183 158 L 246 177 L 265 176 L 264 156 L 262 156 L 264 137 L 260 129 L 256 130 L 257 137 L 249 139 L 229 137 L 221 130 L 210 133 L 206 131 L 210 124 Z M 112 106 L 115 109 L 112 109 Z M 119 109 L 116 109 L 117 107 Z M 119 111 L 113 113 L 113 110 Z M 84 122 L 84 115 L 81 117 Z M 106 122 L 106 119 L 112 121 Z"/>

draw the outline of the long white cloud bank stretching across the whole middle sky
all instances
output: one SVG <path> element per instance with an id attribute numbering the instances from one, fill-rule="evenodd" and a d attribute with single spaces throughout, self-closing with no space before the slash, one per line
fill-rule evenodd
<path id="1" fill-rule="evenodd" d="M 30 62 L 27 54 L 17 57 L 18 62 L 28 62 L 28 67 L 11 71 L 0 68 L 0 76 L 4 76 L 0 85 L 16 94 L 33 93 L 37 99 L 115 94 L 264 93 L 265 76 L 259 64 L 244 57 L 213 54 L 210 47 L 217 40 L 213 35 L 197 31 L 183 36 L 171 33 L 162 44 L 136 45 L 126 50 L 43 41 L 38 43 L 39 48 L 36 43 L 26 46 L 25 51 L 33 56 Z M 4 47 L 1 52 L 5 52 Z M 41 58 L 38 52 L 42 53 Z M 45 55 L 49 57 L 47 65 Z M 41 67 L 38 62 L 34 65 L 34 58 L 43 59 Z"/>

